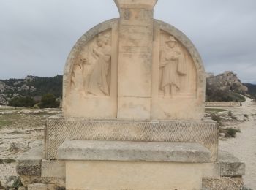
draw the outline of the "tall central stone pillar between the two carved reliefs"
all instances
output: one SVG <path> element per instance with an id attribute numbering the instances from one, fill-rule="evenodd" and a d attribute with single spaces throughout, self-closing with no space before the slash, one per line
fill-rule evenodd
<path id="1" fill-rule="evenodd" d="M 151 118 L 154 5 L 157 0 L 115 0 L 120 12 L 118 118 Z"/>

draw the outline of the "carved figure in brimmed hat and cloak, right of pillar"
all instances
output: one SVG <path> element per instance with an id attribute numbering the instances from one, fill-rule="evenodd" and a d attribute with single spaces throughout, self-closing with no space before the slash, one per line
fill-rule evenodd
<path id="1" fill-rule="evenodd" d="M 181 76 L 186 75 L 185 58 L 173 36 L 165 41 L 160 53 L 159 69 L 162 69 L 160 89 L 165 97 L 176 94 L 181 88 Z"/>

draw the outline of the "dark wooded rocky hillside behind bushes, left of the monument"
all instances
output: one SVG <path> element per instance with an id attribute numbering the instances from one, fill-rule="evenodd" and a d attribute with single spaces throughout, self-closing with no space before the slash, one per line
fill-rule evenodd
<path id="1" fill-rule="evenodd" d="M 24 79 L 0 80 L 0 104 L 8 104 L 8 101 L 15 96 L 32 96 L 38 100 L 42 95 L 48 93 L 61 97 L 61 75 L 56 77 L 27 76 Z"/>

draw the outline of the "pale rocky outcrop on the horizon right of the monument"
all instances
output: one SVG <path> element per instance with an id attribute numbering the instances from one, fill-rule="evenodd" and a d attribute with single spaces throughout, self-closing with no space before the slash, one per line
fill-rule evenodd
<path id="1" fill-rule="evenodd" d="M 241 93 L 248 91 L 248 88 L 241 83 L 241 80 L 232 71 L 226 71 L 216 76 L 208 73 L 206 74 L 206 83 L 208 86 L 214 86 L 222 91 L 238 91 Z"/>

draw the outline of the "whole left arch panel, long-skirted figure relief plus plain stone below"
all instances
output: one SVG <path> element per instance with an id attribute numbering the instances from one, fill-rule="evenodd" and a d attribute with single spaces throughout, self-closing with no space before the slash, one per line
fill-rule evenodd
<path id="1" fill-rule="evenodd" d="M 78 40 L 67 62 L 70 69 L 65 74 L 66 117 L 117 117 L 117 23 L 93 32 L 93 37 L 87 33 Z"/>

